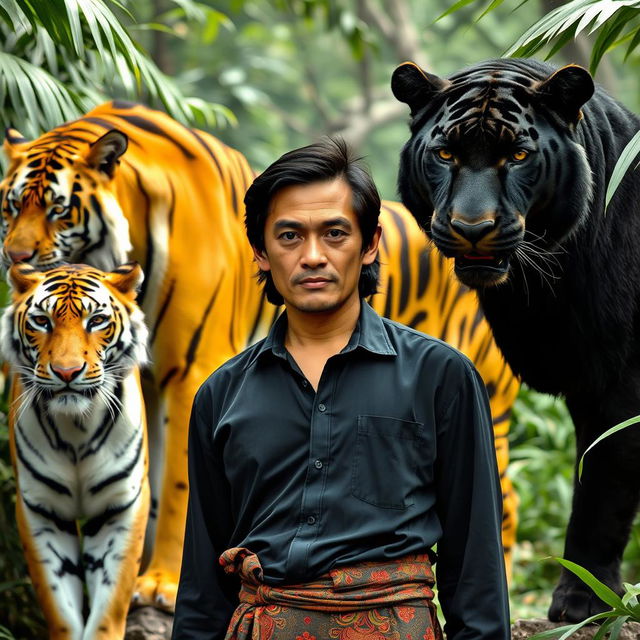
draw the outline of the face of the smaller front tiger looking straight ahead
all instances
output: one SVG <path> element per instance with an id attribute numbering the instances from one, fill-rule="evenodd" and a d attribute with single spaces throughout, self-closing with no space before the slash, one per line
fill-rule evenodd
<path id="1" fill-rule="evenodd" d="M 100 396 L 117 411 L 118 380 L 146 361 L 147 329 L 135 303 L 139 265 L 40 272 L 18 264 L 9 280 L 13 301 L 0 345 L 21 377 L 22 404 L 42 398 L 52 413 L 81 415 Z"/>

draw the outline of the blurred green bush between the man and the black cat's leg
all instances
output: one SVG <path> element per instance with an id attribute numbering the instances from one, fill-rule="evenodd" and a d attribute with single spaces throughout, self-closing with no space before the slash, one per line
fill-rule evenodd
<path id="1" fill-rule="evenodd" d="M 509 475 L 520 498 L 511 616 L 514 620 L 546 617 L 560 576 L 552 557 L 564 553 L 573 493 L 575 435 L 564 402 L 523 388 L 514 407 L 509 442 Z M 588 455 L 598 455 L 597 447 Z M 622 574 L 637 576 L 639 569 L 640 530 L 634 526 Z"/>

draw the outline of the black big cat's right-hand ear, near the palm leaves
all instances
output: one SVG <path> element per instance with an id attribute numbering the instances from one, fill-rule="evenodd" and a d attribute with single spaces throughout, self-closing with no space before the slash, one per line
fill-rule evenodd
<path id="1" fill-rule="evenodd" d="M 558 69 L 536 87 L 539 99 L 567 124 L 582 118 L 580 107 L 594 91 L 591 74 L 576 64 Z"/>

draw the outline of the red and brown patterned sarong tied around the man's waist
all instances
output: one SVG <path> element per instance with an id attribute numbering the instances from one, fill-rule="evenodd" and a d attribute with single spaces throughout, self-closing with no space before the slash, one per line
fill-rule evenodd
<path id="1" fill-rule="evenodd" d="M 426 554 L 338 567 L 313 582 L 264 584 L 248 549 L 220 556 L 241 580 L 225 640 L 442 640 Z"/>

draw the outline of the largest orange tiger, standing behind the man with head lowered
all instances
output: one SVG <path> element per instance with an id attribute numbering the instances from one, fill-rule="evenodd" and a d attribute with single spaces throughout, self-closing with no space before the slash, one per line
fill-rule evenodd
<path id="1" fill-rule="evenodd" d="M 222 362 L 266 334 L 278 310 L 253 277 L 243 195 L 253 179 L 244 157 L 167 115 L 104 104 L 34 141 L 7 132 L 9 170 L 0 183 L 7 263 L 60 260 L 101 269 L 143 265 L 139 300 L 152 366 L 143 377 L 153 505 L 151 560 L 137 601 L 172 609 L 186 510 L 188 417 L 196 389 Z M 487 382 L 500 470 L 517 382 L 504 365 L 472 294 L 430 253 L 398 204 L 382 212 L 382 290 L 373 305 L 395 320 L 445 337 L 471 356 Z M 515 511 L 507 495 L 505 544 Z M 157 501 L 157 504 L 156 504 Z M 156 525 L 154 527 L 154 525 Z"/>

